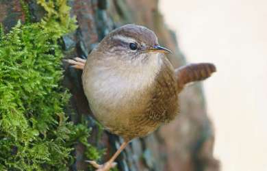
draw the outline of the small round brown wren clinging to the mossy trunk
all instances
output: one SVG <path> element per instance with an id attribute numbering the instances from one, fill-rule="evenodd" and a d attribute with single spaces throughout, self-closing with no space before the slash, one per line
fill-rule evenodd
<path id="1" fill-rule="evenodd" d="M 186 83 L 216 71 L 213 64 L 190 64 L 175 70 L 153 31 L 124 25 L 110 32 L 87 60 L 68 60 L 84 70 L 82 83 L 94 116 L 125 142 L 99 171 L 110 170 L 120 152 L 135 137 L 152 133 L 179 114 L 178 94 Z"/>

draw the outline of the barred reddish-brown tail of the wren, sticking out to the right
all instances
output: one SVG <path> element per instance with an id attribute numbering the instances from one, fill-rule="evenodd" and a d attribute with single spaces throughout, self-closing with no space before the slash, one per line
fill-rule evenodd
<path id="1" fill-rule="evenodd" d="M 177 68 L 175 73 L 178 79 L 179 92 L 187 83 L 207 79 L 214 72 L 216 72 L 216 67 L 210 63 L 188 64 Z"/>

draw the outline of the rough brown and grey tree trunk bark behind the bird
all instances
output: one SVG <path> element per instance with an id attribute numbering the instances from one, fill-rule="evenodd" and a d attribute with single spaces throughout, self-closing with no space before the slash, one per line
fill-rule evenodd
<path id="1" fill-rule="evenodd" d="M 157 0 L 73 0 L 69 2 L 72 14 L 77 16 L 79 28 L 73 34 L 62 38 L 66 57 L 86 58 L 96 44 L 112 29 L 125 23 L 144 25 L 155 31 L 160 44 L 172 49 L 170 61 L 175 67 L 186 64 L 175 39 L 175 34 L 164 25 L 157 7 Z M 44 10 L 34 0 L 27 0 L 31 21 L 39 21 Z M 14 26 L 18 19 L 25 21 L 25 14 L 19 0 L 0 0 L 0 23 L 5 31 Z M 81 71 L 66 68 L 64 85 L 71 90 L 71 106 L 74 122 L 86 116 L 92 127 L 90 141 L 99 148 L 107 148 L 102 161 L 106 161 L 118 148 L 120 137 L 104 132 L 99 137 L 98 124 L 88 108 L 88 102 L 81 86 Z M 205 99 L 201 85 L 195 84 L 180 94 L 181 114 L 170 124 L 160 127 L 148 137 L 133 140 L 118 157 L 119 170 L 219 170 L 213 157 L 214 130 L 207 118 Z M 123 119 L 123 118 L 122 118 Z M 84 147 L 75 146 L 77 162 L 72 170 L 86 170 Z"/>

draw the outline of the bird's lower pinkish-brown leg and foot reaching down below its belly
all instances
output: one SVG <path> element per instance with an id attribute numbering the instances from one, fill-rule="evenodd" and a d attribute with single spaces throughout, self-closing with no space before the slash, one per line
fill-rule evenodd
<path id="1" fill-rule="evenodd" d="M 123 144 L 120 145 L 120 148 L 116 151 L 116 153 L 110 158 L 109 161 L 105 162 L 103 165 L 97 164 L 96 161 L 88 161 L 94 168 L 97 168 L 96 171 L 107 171 L 110 170 L 110 168 L 114 168 L 116 166 L 116 163 L 114 163 L 114 160 L 120 155 L 120 153 L 123 151 L 123 149 L 127 146 L 129 141 L 123 142 Z"/>

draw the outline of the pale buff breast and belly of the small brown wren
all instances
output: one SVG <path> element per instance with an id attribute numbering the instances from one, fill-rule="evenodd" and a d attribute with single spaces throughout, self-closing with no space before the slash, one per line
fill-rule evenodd
<path id="1" fill-rule="evenodd" d="M 105 128 L 119 134 L 121 128 L 136 127 L 131 120 L 147 109 L 160 62 L 156 58 L 145 68 L 116 66 L 91 62 L 82 79 L 94 116 Z"/>

